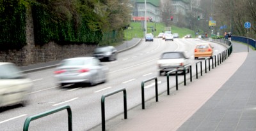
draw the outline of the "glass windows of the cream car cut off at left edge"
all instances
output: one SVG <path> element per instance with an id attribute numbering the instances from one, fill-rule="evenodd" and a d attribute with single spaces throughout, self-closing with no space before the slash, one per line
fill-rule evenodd
<path id="1" fill-rule="evenodd" d="M 15 65 L 0 65 L 0 79 L 18 79 L 22 78 L 22 76 L 22 72 Z"/>

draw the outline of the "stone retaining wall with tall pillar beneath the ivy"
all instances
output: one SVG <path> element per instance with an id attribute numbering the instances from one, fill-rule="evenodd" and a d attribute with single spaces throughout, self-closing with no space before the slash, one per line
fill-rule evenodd
<path id="1" fill-rule="evenodd" d="M 70 57 L 88 56 L 95 45 L 58 45 L 54 42 L 43 46 L 35 45 L 33 31 L 33 17 L 31 8 L 27 10 L 26 17 L 26 41 L 27 45 L 20 50 L 0 51 L 1 62 L 13 62 L 19 66 L 51 62 Z"/>

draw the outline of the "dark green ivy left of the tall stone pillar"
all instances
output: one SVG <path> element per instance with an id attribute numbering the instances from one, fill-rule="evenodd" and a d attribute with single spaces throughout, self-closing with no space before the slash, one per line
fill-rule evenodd
<path id="1" fill-rule="evenodd" d="M 26 45 L 26 7 L 17 1 L 0 3 L 0 50 Z"/>

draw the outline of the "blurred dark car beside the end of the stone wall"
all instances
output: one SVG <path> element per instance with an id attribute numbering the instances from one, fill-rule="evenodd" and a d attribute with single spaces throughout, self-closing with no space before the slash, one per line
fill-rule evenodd
<path id="1" fill-rule="evenodd" d="M 100 46 L 95 48 L 92 56 L 101 61 L 112 61 L 117 59 L 117 50 L 114 46 Z"/>

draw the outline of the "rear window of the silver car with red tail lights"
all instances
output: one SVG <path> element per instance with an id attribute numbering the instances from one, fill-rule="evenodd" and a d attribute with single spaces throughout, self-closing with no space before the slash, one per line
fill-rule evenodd
<path id="1" fill-rule="evenodd" d="M 63 60 L 60 66 L 79 66 L 79 65 L 90 65 L 92 64 L 91 59 L 74 59 L 74 60 Z"/>

